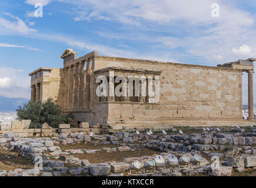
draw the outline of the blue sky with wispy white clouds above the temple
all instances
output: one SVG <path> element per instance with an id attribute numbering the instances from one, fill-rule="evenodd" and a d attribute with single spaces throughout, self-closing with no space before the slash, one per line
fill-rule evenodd
<path id="1" fill-rule="evenodd" d="M 29 98 L 28 73 L 62 68 L 66 48 L 210 66 L 256 58 L 255 10 L 252 0 L 1 0 L 0 95 Z M 243 83 L 247 103 L 246 73 Z"/>

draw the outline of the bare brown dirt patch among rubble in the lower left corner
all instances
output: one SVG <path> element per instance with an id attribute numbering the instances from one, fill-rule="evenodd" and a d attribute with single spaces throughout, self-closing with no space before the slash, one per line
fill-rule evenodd
<path id="1" fill-rule="evenodd" d="M 32 169 L 32 161 L 18 156 L 18 153 L 0 149 L 0 170 Z"/>

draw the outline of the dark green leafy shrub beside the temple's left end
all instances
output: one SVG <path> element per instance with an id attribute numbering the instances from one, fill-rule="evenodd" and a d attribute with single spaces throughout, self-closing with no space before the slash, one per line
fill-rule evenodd
<path id="1" fill-rule="evenodd" d="M 62 115 L 59 105 L 53 99 L 49 98 L 45 102 L 29 101 L 22 107 L 16 109 L 17 119 L 30 119 L 30 129 L 41 128 L 42 123 L 48 123 L 49 126 L 57 128 L 61 123 L 68 123 L 72 119 L 72 115 Z"/>

